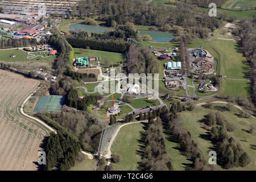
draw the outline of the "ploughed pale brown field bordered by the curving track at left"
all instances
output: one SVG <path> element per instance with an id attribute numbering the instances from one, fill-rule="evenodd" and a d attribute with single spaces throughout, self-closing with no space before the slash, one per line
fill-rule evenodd
<path id="1" fill-rule="evenodd" d="M 48 131 L 20 114 L 38 80 L 0 69 L 0 170 L 36 170 L 40 144 Z"/>

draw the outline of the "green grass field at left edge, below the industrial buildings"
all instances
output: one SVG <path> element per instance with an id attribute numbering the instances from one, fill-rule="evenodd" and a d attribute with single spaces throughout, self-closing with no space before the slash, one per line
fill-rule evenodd
<path id="1" fill-rule="evenodd" d="M 33 52 L 34 53 L 34 52 Z M 15 57 L 10 57 L 10 55 L 15 55 Z M 40 55 L 39 53 L 35 52 L 35 55 Z M 42 54 L 41 54 L 42 55 Z M 7 50 L 0 50 L 0 60 L 1 61 L 36 61 L 36 62 L 43 62 L 43 63 L 51 63 L 56 59 L 56 56 L 50 57 L 35 57 L 33 59 L 27 59 L 27 52 L 20 50 L 20 49 L 7 49 Z M 40 58 L 40 60 L 36 60 Z"/>

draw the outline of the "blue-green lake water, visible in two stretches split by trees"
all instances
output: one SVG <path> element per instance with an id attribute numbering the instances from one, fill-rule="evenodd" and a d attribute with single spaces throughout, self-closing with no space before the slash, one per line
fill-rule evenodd
<path id="1" fill-rule="evenodd" d="M 88 32 L 105 32 L 106 30 L 112 30 L 109 27 L 101 27 L 101 26 L 94 26 L 89 24 L 71 24 L 69 30 L 82 30 Z M 150 30 L 139 30 L 139 34 L 141 35 L 150 35 L 153 41 L 156 42 L 167 42 L 173 40 L 175 38 L 174 34 L 168 32 L 160 32 L 160 31 L 150 31 Z"/>

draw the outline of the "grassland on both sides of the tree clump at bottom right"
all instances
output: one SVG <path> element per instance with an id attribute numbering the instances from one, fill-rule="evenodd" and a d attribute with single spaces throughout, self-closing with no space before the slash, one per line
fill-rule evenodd
<path id="1" fill-rule="evenodd" d="M 217 105 L 224 106 L 223 104 L 215 104 L 215 106 Z M 214 109 L 204 109 L 204 107 L 196 107 L 196 109 L 191 112 L 184 111 L 180 114 L 185 128 L 191 133 L 192 139 L 199 144 L 202 154 L 204 155 L 204 158 L 207 160 L 209 158 L 208 152 L 212 150 L 213 144 L 208 139 L 201 137 L 203 135 L 208 135 L 208 131 L 202 127 L 200 120 L 204 118 L 204 115 L 210 113 L 210 111 L 212 110 L 216 110 L 216 107 L 214 107 Z M 255 143 L 256 133 L 248 134 L 245 131 L 249 129 L 251 123 L 256 122 L 255 119 L 237 117 L 236 114 L 239 113 L 239 110 L 236 109 L 236 107 L 232 107 L 231 111 L 220 111 L 220 113 L 225 116 L 226 121 L 232 123 L 232 125 L 235 127 L 235 130 L 229 133 L 229 135 L 239 140 L 245 151 L 251 156 L 251 158 L 255 159 L 256 153 L 251 145 Z M 222 167 L 220 166 L 218 166 L 218 169 L 223 170 Z M 248 169 L 255 170 L 254 161 L 245 168 L 233 168 L 232 170 Z"/>

